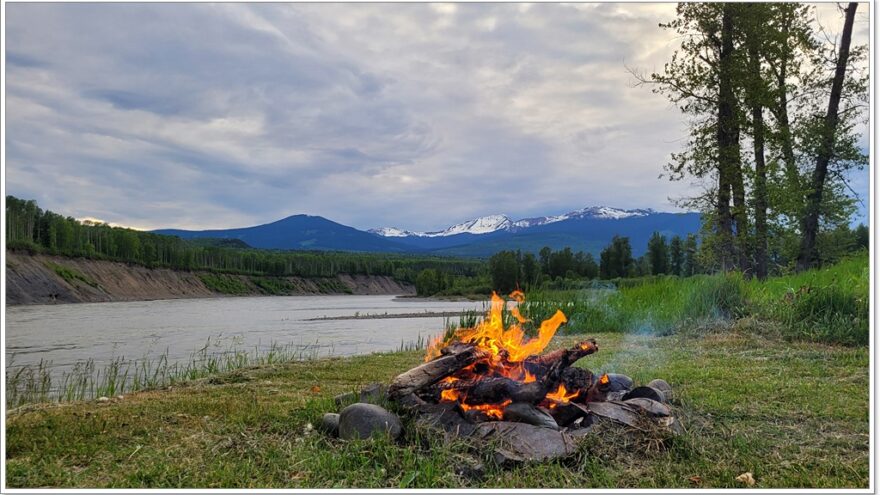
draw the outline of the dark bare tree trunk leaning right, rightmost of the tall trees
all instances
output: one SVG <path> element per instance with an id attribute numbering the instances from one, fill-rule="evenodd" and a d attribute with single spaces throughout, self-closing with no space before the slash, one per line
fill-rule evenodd
<path id="1" fill-rule="evenodd" d="M 837 111 L 840 106 L 840 96 L 843 92 L 843 79 L 846 75 L 846 64 L 849 59 L 853 21 L 858 6 L 858 3 L 852 2 L 846 8 L 846 20 L 843 23 L 843 33 L 840 37 L 837 67 L 834 70 L 834 81 L 831 83 L 831 97 L 828 100 L 828 113 L 825 114 L 822 141 L 816 156 L 816 169 L 813 170 L 810 192 L 807 194 L 806 211 L 801 224 L 803 239 L 797 263 L 798 270 L 810 268 L 816 258 L 816 234 L 819 230 L 822 190 L 825 187 L 825 177 L 828 175 L 828 163 L 831 161 L 832 154 L 834 153 L 834 134 L 837 131 L 838 122 Z"/>

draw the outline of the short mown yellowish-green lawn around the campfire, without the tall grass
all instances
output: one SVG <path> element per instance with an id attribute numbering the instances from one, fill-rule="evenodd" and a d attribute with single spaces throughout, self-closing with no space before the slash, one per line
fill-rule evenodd
<path id="1" fill-rule="evenodd" d="M 755 320 L 670 336 L 597 333 L 582 363 L 668 380 L 686 432 L 610 429 L 576 456 L 502 469 L 407 425 L 400 443 L 315 433 L 332 397 L 421 361 L 407 351 L 247 367 L 109 402 L 7 417 L 10 487 L 867 487 L 868 349 L 789 342 Z M 570 344 L 558 338 L 555 345 Z M 480 460 L 481 477 L 457 474 Z"/>

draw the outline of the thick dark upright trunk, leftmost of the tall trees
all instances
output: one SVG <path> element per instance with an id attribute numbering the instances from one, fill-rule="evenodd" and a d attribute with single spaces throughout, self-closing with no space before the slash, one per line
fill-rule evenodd
<path id="1" fill-rule="evenodd" d="M 739 206 L 738 186 L 742 184 L 742 171 L 739 180 L 739 124 L 736 118 L 736 95 L 733 91 L 733 6 L 724 4 L 721 17 L 721 52 L 718 71 L 718 235 L 719 260 L 722 269 L 732 268 L 734 259 L 732 216 L 730 194 L 733 192 L 734 205 Z M 737 229 L 739 230 L 739 222 Z"/>

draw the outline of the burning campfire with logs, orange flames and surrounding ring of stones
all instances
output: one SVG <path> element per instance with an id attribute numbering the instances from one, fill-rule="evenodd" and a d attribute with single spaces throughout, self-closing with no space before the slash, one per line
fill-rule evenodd
<path id="1" fill-rule="evenodd" d="M 496 460 L 543 461 L 573 453 L 577 440 L 597 421 L 622 427 L 653 425 L 679 428 L 668 405 L 672 388 L 663 380 L 633 387 L 625 375 L 596 375 L 578 360 L 599 351 L 593 339 L 544 353 L 566 317 L 557 311 L 528 338 L 528 320 L 493 294 L 486 318 L 473 328 L 459 328 L 428 347 L 425 362 L 398 375 L 388 387 L 373 385 L 337 404 L 360 403 L 327 414 L 324 430 L 343 438 L 363 438 L 382 431 L 398 436 L 401 422 L 387 410 L 365 402 L 390 403 L 415 417 L 422 427 L 449 438 L 491 442 Z M 505 325 L 505 309 L 509 312 Z"/>

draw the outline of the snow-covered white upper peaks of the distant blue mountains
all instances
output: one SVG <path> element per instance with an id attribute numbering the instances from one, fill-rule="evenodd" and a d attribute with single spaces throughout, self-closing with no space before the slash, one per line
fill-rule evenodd
<path id="1" fill-rule="evenodd" d="M 527 229 L 575 218 L 619 220 L 622 218 L 643 217 L 652 213 L 656 212 L 652 209 L 623 210 L 608 206 L 589 206 L 587 208 L 581 208 L 580 210 L 570 211 L 563 215 L 523 218 L 517 221 L 512 221 L 507 215 L 488 215 L 468 222 L 462 222 L 437 232 L 413 232 L 395 227 L 370 229 L 369 232 L 383 237 L 446 237 L 457 234 L 489 234 L 497 231 L 516 232 L 520 229 Z"/>

